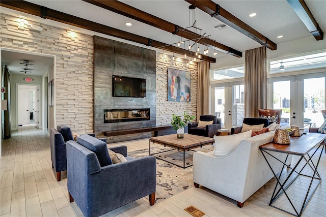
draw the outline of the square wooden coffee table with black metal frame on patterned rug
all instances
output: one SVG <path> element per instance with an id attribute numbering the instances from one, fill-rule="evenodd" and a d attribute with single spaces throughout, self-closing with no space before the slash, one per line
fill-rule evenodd
<path id="1" fill-rule="evenodd" d="M 177 134 L 151 137 L 149 139 L 149 155 L 154 155 L 154 154 L 158 154 L 158 153 L 171 151 L 171 150 L 166 150 L 166 151 L 161 151 L 161 152 L 151 154 L 151 142 L 157 143 L 160 145 L 164 145 L 164 146 L 168 146 L 168 147 L 172 147 L 177 150 L 183 150 L 183 167 L 180 165 L 174 164 L 172 162 L 169 162 L 167 160 L 158 158 L 156 156 L 155 157 L 162 161 L 166 161 L 170 164 L 176 165 L 178 167 L 187 168 L 187 167 L 191 167 L 193 165 L 185 166 L 185 151 L 190 151 L 193 148 L 202 147 L 203 145 L 213 144 L 214 139 L 210 138 L 210 137 L 197 136 L 197 135 L 192 135 L 192 134 L 184 134 L 184 138 L 182 138 L 182 139 L 177 138 Z"/>

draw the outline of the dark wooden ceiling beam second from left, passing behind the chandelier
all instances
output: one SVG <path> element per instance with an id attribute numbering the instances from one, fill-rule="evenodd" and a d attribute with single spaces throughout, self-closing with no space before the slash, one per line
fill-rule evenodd
<path id="1" fill-rule="evenodd" d="M 194 33 L 188 29 L 183 29 L 183 27 L 181 26 L 178 26 L 174 23 L 171 23 L 169 21 L 166 21 L 164 19 L 161 19 L 159 17 L 156 17 L 144 11 L 141 11 L 137 8 L 131 7 L 117 0 L 111 0 L 111 1 L 83 0 L 83 1 L 104 8 L 106 10 L 113 11 L 117 14 L 129 17 L 131 19 L 138 20 L 140 22 L 146 23 L 156 28 L 165 30 L 166 32 L 172 33 L 174 35 L 178 35 L 185 39 L 197 41 L 194 39 L 198 39 L 201 37 L 201 35 Z M 183 30 L 181 31 L 180 29 Z M 242 57 L 241 51 L 238 51 L 236 49 L 233 49 L 231 47 L 228 47 L 226 45 L 223 45 L 219 42 L 216 42 L 208 38 L 202 38 L 198 41 L 198 43 L 208 46 L 210 48 L 219 48 L 219 50 L 221 50 L 222 52 L 228 53 L 236 57 Z"/>

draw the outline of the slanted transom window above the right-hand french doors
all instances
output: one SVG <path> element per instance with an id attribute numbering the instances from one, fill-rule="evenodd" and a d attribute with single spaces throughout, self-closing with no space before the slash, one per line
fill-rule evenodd
<path id="1" fill-rule="evenodd" d="M 284 73 L 326 67 L 326 52 L 270 61 L 270 73 Z"/>

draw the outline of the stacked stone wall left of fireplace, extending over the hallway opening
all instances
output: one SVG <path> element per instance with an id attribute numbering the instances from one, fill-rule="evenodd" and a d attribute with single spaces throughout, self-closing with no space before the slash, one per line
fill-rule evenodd
<path id="1" fill-rule="evenodd" d="M 0 46 L 56 55 L 56 125 L 66 123 L 76 133 L 92 133 L 92 36 L 43 23 L 30 23 L 43 30 L 30 30 L 20 23 L 20 18 L 1 14 Z"/>

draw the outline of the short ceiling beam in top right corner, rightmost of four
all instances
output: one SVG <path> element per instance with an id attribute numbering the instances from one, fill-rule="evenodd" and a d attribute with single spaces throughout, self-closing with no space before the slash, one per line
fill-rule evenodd
<path id="1" fill-rule="evenodd" d="M 315 39 L 322 40 L 323 39 L 323 32 L 319 27 L 317 21 L 315 20 L 314 16 L 310 12 L 307 4 L 304 0 L 287 0 L 290 4 L 294 12 L 297 16 L 301 19 L 301 21 L 306 25 L 311 35 L 315 37 Z"/>

